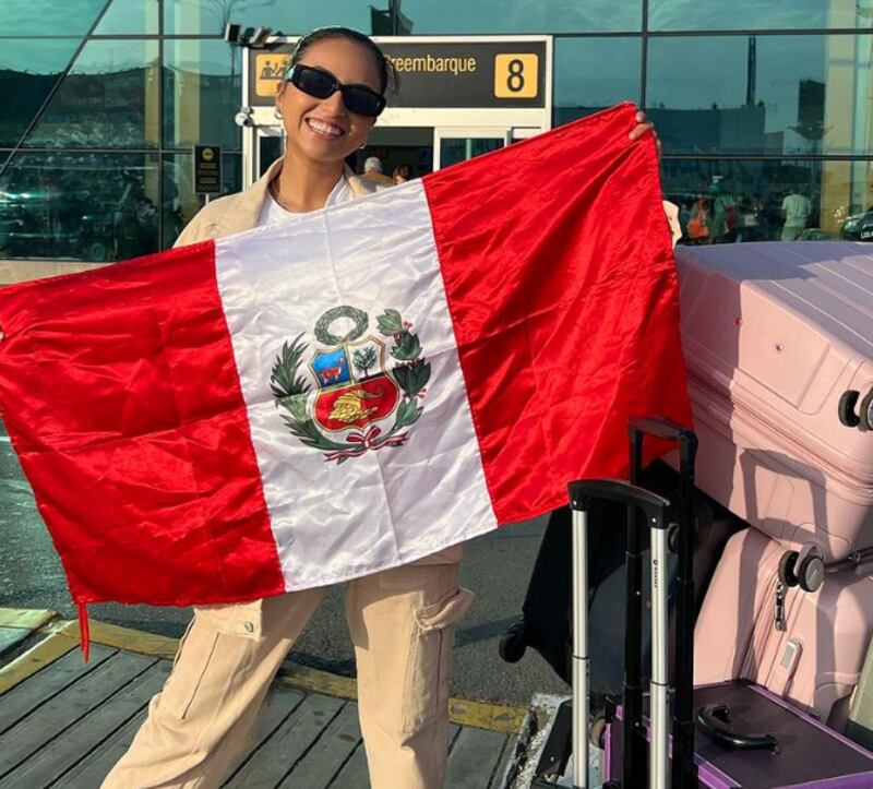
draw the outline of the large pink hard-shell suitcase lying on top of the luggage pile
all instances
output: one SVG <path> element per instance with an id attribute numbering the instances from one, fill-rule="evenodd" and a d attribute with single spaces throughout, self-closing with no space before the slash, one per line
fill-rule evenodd
<path id="1" fill-rule="evenodd" d="M 697 485 L 786 543 L 817 543 L 826 562 L 873 546 L 873 434 L 838 418 L 846 391 L 862 401 L 873 387 L 869 251 L 675 250 Z"/>

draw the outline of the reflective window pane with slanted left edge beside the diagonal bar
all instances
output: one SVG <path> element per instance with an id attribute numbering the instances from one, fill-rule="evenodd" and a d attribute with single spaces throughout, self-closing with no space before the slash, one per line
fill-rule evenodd
<path id="1" fill-rule="evenodd" d="M 144 147 L 157 145 L 156 40 L 92 40 L 27 147 Z"/>

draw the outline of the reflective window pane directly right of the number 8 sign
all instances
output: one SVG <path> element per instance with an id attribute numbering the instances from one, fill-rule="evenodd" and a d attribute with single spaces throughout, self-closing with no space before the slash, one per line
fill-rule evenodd
<path id="1" fill-rule="evenodd" d="M 639 101 L 641 38 L 558 38 L 553 123 Z"/>

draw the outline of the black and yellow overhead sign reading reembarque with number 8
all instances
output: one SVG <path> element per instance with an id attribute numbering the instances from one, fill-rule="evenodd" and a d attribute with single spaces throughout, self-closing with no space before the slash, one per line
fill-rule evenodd
<path id="1" fill-rule="evenodd" d="M 545 40 L 382 40 L 399 77 L 390 107 L 546 107 Z M 291 44 L 249 50 L 253 106 L 271 105 Z"/>

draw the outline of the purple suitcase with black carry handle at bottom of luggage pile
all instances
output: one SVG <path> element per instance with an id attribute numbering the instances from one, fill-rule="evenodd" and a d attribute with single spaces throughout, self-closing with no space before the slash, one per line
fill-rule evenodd
<path id="1" fill-rule="evenodd" d="M 694 765 L 697 781 L 707 789 L 871 789 L 873 754 L 833 729 L 792 707 L 769 691 L 742 681 L 701 685 L 694 689 L 695 709 L 719 706 L 730 710 L 729 724 L 716 720 L 721 737 L 739 733 L 750 744 L 748 732 L 757 732 L 758 748 L 743 750 L 719 744 L 701 730 L 695 734 Z M 644 717 L 648 734 L 648 720 Z M 745 732 L 743 736 L 742 732 Z M 607 726 L 603 780 L 621 776 L 622 709 Z M 768 734 L 778 742 L 768 748 Z"/>

